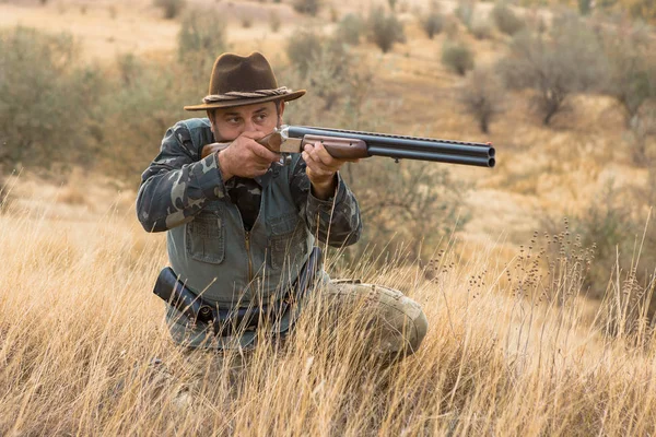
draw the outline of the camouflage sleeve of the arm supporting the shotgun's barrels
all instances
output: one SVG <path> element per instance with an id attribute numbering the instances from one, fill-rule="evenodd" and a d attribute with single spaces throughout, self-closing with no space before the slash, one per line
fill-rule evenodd
<path id="1" fill-rule="evenodd" d="M 320 200 L 312 194 L 305 168 L 305 161 L 298 158 L 291 179 L 291 190 L 296 208 L 305 216 L 307 227 L 318 235 L 321 243 L 328 243 L 330 246 L 340 247 L 356 243 L 362 235 L 360 206 L 341 175 L 338 173 L 336 176 L 335 197 Z"/>

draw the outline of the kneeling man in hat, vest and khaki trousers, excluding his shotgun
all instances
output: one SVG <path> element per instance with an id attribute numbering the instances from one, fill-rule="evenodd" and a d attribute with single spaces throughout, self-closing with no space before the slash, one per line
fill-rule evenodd
<path id="1" fill-rule="evenodd" d="M 279 87 L 262 55 L 224 54 L 214 63 L 203 104 L 185 107 L 204 110 L 208 118 L 168 129 L 142 175 L 139 221 L 148 232 L 168 232 L 173 270 L 219 308 L 274 307 L 294 294 L 315 235 L 337 247 L 360 238 L 358 201 L 339 174 L 345 161 L 315 143 L 280 165 L 280 155 L 257 142 L 282 125 L 285 102 L 304 94 Z M 362 296 L 373 299 L 380 354 L 417 350 L 426 331 L 417 303 L 382 286 L 333 283 L 321 273 L 321 285 L 312 293 L 348 305 Z M 267 332 L 286 332 L 298 308 L 277 315 Z M 258 341 L 255 329 L 214 335 L 171 306 L 167 321 L 174 340 L 189 347 L 248 347 Z"/>

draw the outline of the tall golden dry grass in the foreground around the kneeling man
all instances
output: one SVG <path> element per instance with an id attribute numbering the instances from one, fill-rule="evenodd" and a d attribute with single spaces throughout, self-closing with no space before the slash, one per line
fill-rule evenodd
<path id="1" fill-rule="evenodd" d="M 429 270 L 362 264 L 355 274 L 402 290 L 429 318 L 398 365 L 368 359 L 347 321 L 328 335 L 308 319 L 235 376 L 169 341 L 151 293 L 163 236 L 142 233 L 130 209 L 57 220 L 55 203 L 36 216 L 20 206 L 0 215 L 0 435 L 656 432 L 653 334 L 642 321 L 605 336 L 586 316 L 589 260 L 564 234 L 509 263 L 491 244 L 466 261 L 449 248 Z M 547 243 L 562 250 L 542 273 Z M 621 319 L 624 298 L 605 310 Z M 153 357 L 172 378 L 157 381 Z"/>

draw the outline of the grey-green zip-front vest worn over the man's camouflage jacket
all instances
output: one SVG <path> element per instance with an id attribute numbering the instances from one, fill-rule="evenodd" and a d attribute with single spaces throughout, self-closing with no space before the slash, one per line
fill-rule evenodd
<path id="1" fill-rule="evenodd" d="M 208 144 L 208 125 L 188 123 L 191 140 Z M 279 298 L 298 275 L 314 236 L 296 210 L 290 190 L 292 163 L 273 165 L 258 178 L 259 215 L 246 232 L 230 197 L 210 201 L 190 222 L 167 233 L 171 267 L 192 291 L 222 308 L 248 307 Z"/>

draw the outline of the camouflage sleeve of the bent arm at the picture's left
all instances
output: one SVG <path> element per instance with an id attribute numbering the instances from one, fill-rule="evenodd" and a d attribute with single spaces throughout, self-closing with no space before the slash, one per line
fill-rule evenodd
<path id="1" fill-rule="evenodd" d="M 145 231 L 163 232 L 187 223 L 207 201 L 226 196 L 216 155 L 199 160 L 197 149 L 184 123 L 166 131 L 137 194 L 137 216 Z"/>

